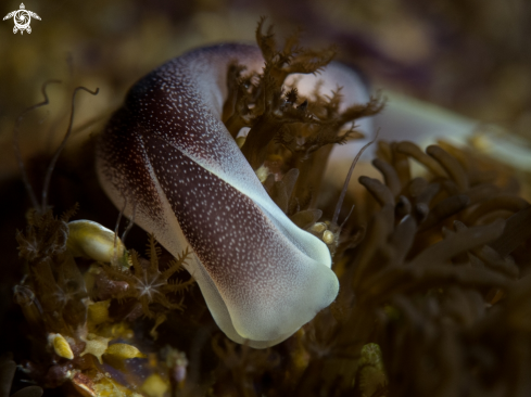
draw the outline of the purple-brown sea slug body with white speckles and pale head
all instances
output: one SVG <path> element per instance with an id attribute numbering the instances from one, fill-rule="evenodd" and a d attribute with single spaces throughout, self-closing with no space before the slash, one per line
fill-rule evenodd
<path id="1" fill-rule="evenodd" d="M 113 203 L 173 255 L 191 246 L 188 270 L 227 336 L 262 348 L 330 305 L 339 283 L 325 243 L 271 201 L 220 120 L 235 61 L 264 66 L 258 48 L 220 44 L 142 78 L 100 137 L 97 169 Z M 332 64 L 318 78 L 337 88 L 353 76 Z"/>

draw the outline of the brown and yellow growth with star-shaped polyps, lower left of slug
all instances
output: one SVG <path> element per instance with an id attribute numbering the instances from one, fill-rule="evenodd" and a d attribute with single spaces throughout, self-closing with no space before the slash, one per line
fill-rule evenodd
<path id="1" fill-rule="evenodd" d="M 138 340 L 131 326 L 142 315 L 154 318 L 149 334 L 156 338 L 166 313 L 182 311 L 184 293 L 194 281 L 175 276 L 190 252 L 161 264 L 161 248 L 151 235 L 149 260 L 131 251 L 130 269 L 78 257 L 69 248 L 67 223 L 76 209 L 61 218 L 51 209 L 45 214 L 31 209 L 26 231 L 16 234 L 25 276 L 13 289 L 14 300 L 30 326 L 35 351 L 24 373 L 43 387 L 62 387 L 66 395 L 132 396 L 129 386 L 106 376 L 108 369 L 101 366 L 123 371 L 122 382 L 128 385 L 143 384 L 127 367 L 129 360 L 146 358 L 135 346 Z M 176 363 L 161 364 L 157 371 L 170 371 L 172 366 Z M 9 390 L 10 385 L 5 387 Z"/>

